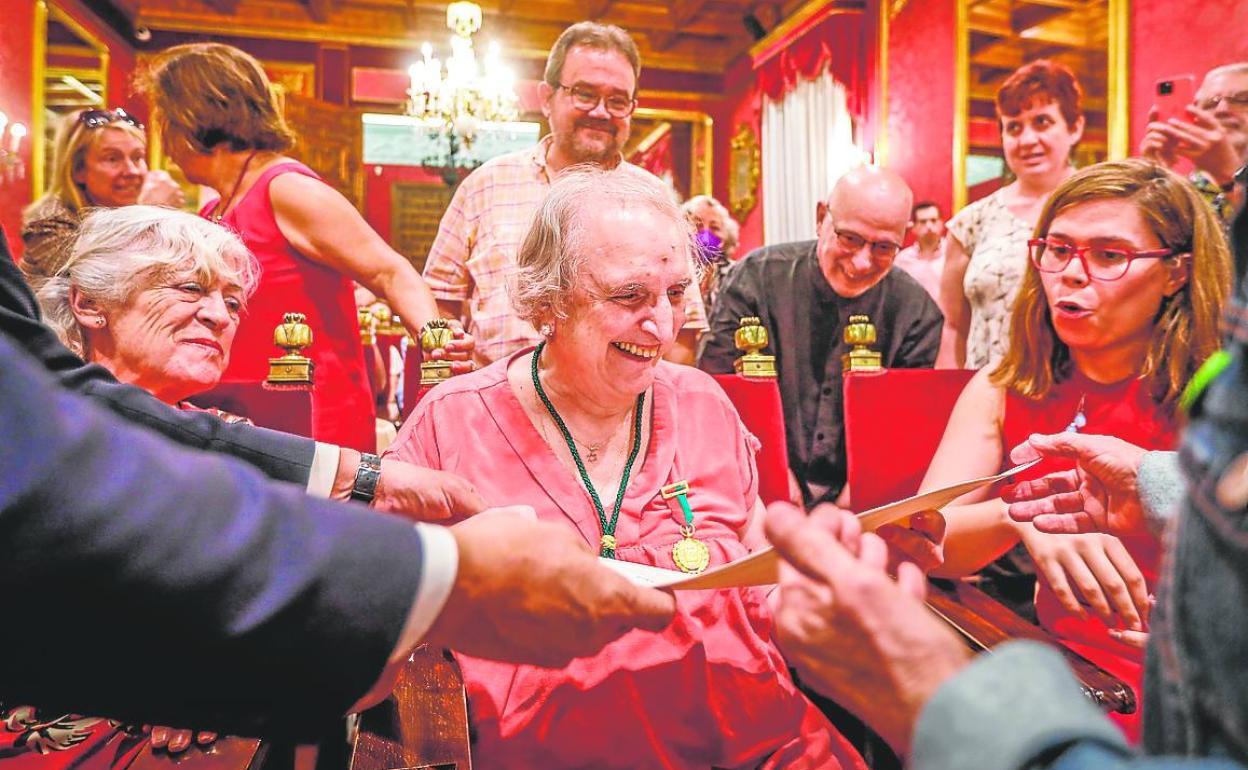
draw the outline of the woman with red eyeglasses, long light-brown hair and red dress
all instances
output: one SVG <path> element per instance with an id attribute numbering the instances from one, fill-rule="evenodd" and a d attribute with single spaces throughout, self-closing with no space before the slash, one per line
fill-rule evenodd
<path id="1" fill-rule="evenodd" d="M 1231 291 L 1231 255 L 1209 207 L 1148 161 L 1098 163 L 1053 192 L 1028 256 L 1006 354 L 962 391 L 924 490 L 1008 467 L 1010 448 L 1032 433 L 1177 444 L 1179 397 L 1218 349 Z M 1139 701 L 1156 538 L 1042 534 L 1010 519 L 1000 489 L 968 494 L 945 517 L 945 563 L 934 574 L 975 573 L 1021 540 L 1040 577 L 1041 625 Z M 1138 711 L 1113 716 L 1138 738 Z"/>

